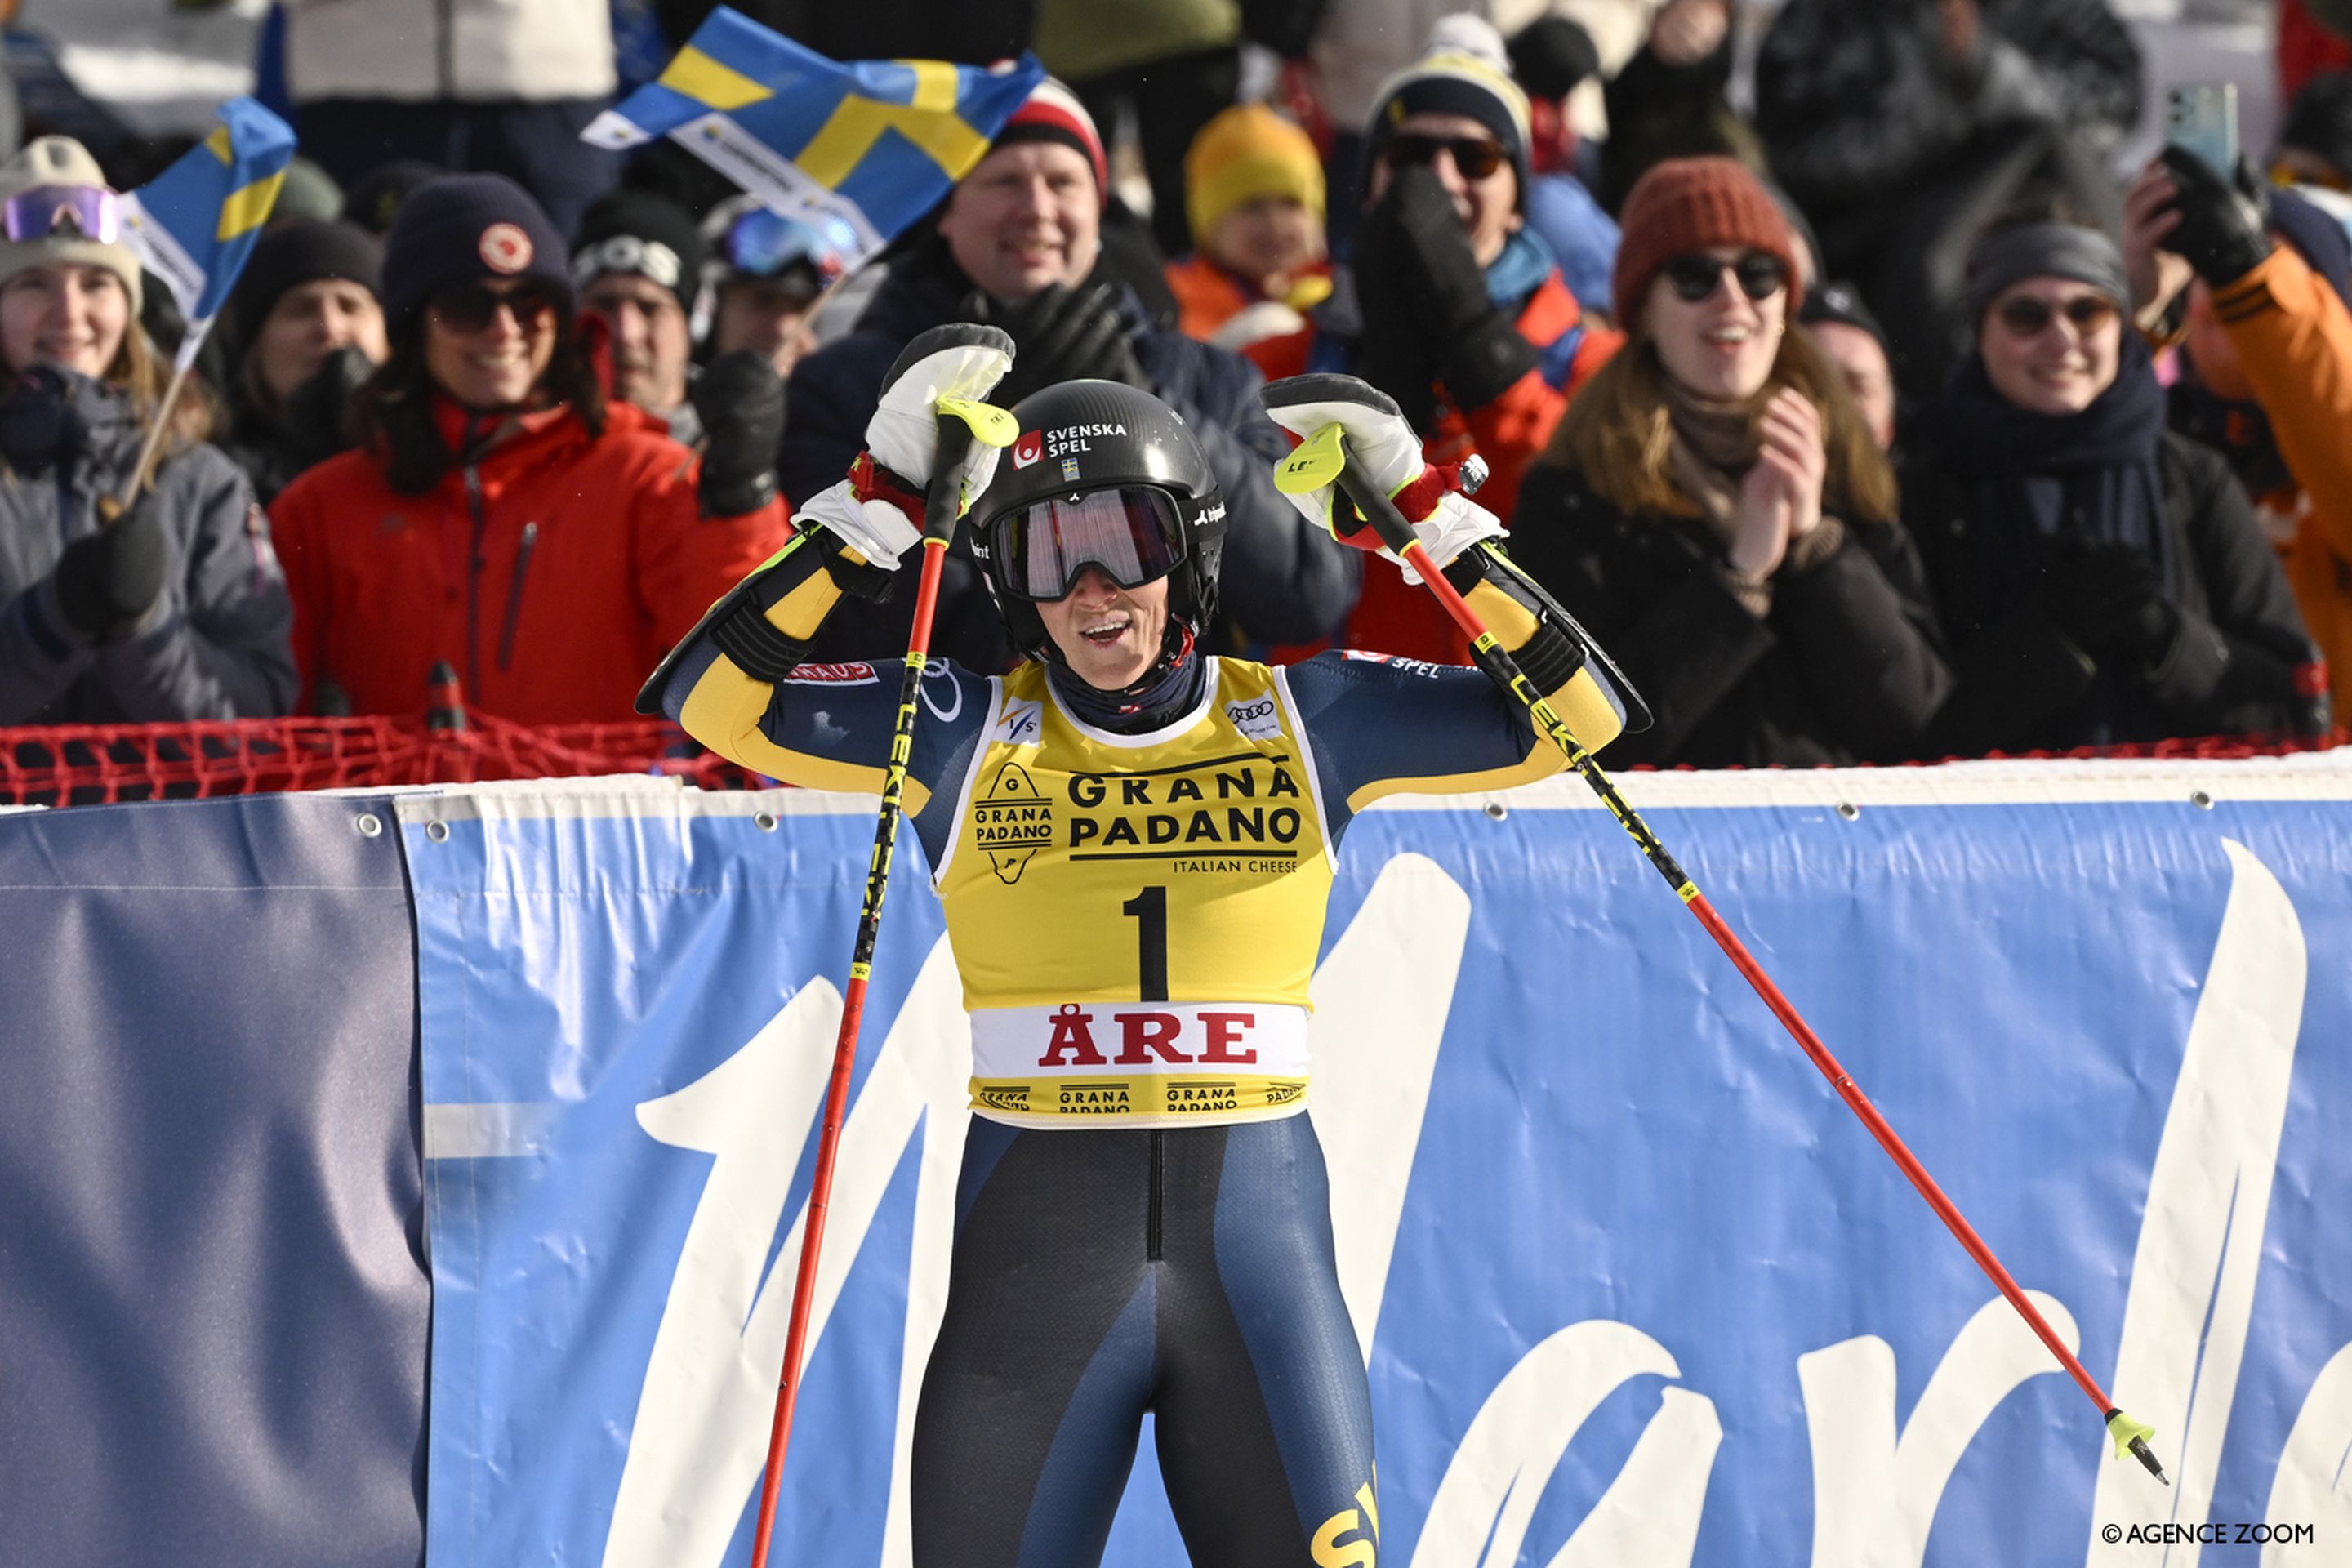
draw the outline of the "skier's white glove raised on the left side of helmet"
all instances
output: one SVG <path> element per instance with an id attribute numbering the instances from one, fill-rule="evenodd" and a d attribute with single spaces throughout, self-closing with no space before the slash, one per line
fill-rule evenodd
<path id="1" fill-rule="evenodd" d="M 922 510 L 934 480 L 962 487 L 957 515 L 988 489 L 997 451 L 1018 428 L 981 400 L 1011 369 L 1014 343 L 995 327 L 948 322 L 920 334 L 882 376 L 882 397 L 866 421 L 866 451 L 849 477 L 800 508 L 800 522 L 828 529 L 868 564 L 898 569 L 898 557 L 922 541 Z M 941 404 L 974 428 L 971 454 L 950 475 L 936 475 Z M 962 409 L 957 409 L 962 404 Z"/>

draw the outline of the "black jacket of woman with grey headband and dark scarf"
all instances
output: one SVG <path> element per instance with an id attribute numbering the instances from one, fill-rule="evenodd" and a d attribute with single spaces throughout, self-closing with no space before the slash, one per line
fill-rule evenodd
<path id="1" fill-rule="evenodd" d="M 1922 741 L 1926 755 L 2067 750 L 2171 736 L 2307 733 L 2324 726 L 2312 689 L 2317 644 L 2279 557 L 2230 463 L 2164 435 L 2169 555 L 2180 639 L 2154 675 L 2107 670 L 2074 646 L 2039 595 L 1987 597 L 1973 564 L 2034 548 L 2013 520 L 1978 515 L 1978 487 L 1931 444 L 1903 470 L 1903 515 L 1919 543 L 1959 689 Z"/>

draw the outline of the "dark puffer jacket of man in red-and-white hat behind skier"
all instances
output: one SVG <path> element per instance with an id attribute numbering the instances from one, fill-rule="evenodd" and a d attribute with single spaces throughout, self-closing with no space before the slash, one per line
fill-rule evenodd
<path id="1" fill-rule="evenodd" d="M 971 282 L 943 247 L 917 247 L 891 266 L 854 334 L 793 369 L 776 480 L 795 505 L 849 473 L 898 350 L 915 334 L 957 320 L 969 292 Z M 1225 494 L 1225 562 L 1218 576 L 1225 621 L 1258 642 L 1331 635 L 1355 604 L 1362 552 L 1310 527 L 1275 491 L 1272 465 L 1289 451 L 1289 437 L 1258 407 L 1258 369 L 1223 348 L 1155 331 L 1131 296 L 1124 308 L 1136 362 L 1162 402 L 1183 414 Z M 887 604 L 842 604 L 826 623 L 814 658 L 906 654 L 913 599 L 913 592 L 898 592 Z M 941 574 L 931 649 L 985 675 L 1018 661 L 962 536 Z"/>

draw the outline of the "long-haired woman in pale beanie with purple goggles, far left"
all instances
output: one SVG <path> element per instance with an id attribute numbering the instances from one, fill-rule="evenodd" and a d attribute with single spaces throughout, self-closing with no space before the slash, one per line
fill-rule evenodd
<path id="1" fill-rule="evenodd" d="M 120 517 L 167 367 L 120 197 L 82 143 L 0 165 L 0 724 L 270 717 L 287 588 L 254 489 L 174 421 Z"/>

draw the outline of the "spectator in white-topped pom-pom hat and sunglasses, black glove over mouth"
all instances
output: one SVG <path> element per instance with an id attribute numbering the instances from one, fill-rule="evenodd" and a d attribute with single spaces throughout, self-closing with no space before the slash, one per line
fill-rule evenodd
<path id="1" fill-rule="evenodd" d="M 1526 94 L 1503 40 L 1449 16 L 1432 47 L 1390 78 L 1364 134 L 1364 221 L 1352 289 L 1305 331 L 1247 353 L 1268 381 L 1350 371 L 1397 400 L 1432 463 L 1486 458 L 1479 505 L 1505 522 L 1519 475 L 1552 437 L 1569 395 L 1623 336 L 1585 322 L 1545 242 L 1526 228 Z M 1468 644 L 1418 588 L 1364 574 L 1350 646 L 1465 663 Z"/>

